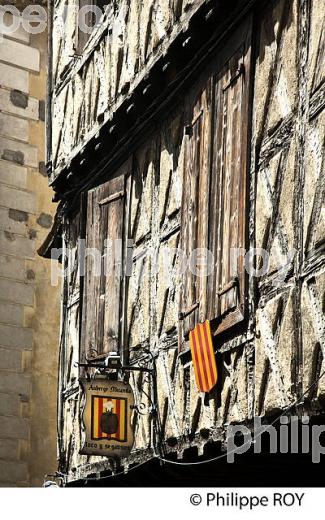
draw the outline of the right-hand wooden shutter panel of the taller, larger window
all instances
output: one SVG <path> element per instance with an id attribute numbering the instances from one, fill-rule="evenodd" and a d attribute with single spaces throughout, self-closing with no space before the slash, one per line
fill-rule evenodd
<path id="1" fill-rule="evenodd" d="M 209 248 L 215 270 L 209 278 L 208 317 L 216 332 L 242 321 L 246 310 L 244 256 L 247 245 L 248 119 L 251 23 L 229 42 L 215 77 Z"/>

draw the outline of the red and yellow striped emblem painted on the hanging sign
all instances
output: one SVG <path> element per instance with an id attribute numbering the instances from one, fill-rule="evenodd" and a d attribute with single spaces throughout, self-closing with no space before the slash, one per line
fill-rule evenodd
<path id="1" fill-rule="evenodd" d="M 103 415 L 110 415 L 112 425 L 116 425 L 115 433 L 109 434 L 102 431 Z M 92 440 L 127 440 L 127 405 L 126 399 L 112 397 L 92 396 L 91 407 L 91 438 Z M 105 418 L 105 417 L 104 417 Z"/>

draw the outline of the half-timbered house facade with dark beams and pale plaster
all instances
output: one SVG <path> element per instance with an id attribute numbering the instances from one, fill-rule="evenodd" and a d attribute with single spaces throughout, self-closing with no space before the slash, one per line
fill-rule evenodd
<path id="1" fill-rule="evenodd" d="M 155 374 L 128 375 L 135 442 L 122 470 L 223 449 L 226 425 L 296 402 L 321 414 L 325 396 L 322 0 L 87 3 L 108 6 L 86 36 L 65 1 L 51 13 L 60 204 L 44 254 L 62 245 L 68 481 L 114 469 L 79 453 L 79 379 L 110 353 Z M 189 332 L 205 320 L 219 379 L 200 393 Z"/>

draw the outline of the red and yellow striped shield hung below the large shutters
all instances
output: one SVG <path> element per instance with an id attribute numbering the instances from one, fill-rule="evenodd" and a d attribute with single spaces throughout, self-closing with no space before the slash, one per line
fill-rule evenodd
<path id="1" fill-rule="evenodd" d="M 196 384 L 201 392 L 210 392 L 217 384 L 218 371 L 208 320 L 191 330 L 190 347 Z"/>

